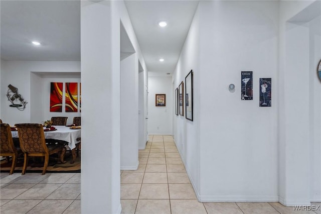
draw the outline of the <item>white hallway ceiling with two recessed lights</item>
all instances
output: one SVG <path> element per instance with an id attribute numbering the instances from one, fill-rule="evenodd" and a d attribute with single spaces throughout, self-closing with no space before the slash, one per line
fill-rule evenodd
<path id="1" fill-rule="evenodd" d="M 173 73 L 198 1 L 125 1 L 148 72 Z M 165 28 L 158 22 L 165 20 Z M 164 58 L 164 62 L 159 62 Z"/>

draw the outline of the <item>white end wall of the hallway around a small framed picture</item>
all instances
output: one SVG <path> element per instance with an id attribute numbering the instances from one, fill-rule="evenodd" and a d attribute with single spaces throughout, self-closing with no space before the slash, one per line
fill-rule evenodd
<path id="1" fill-rule="evenodd" d="M 155 94 L 166 94 L 166 106 L 155 106 Z M 148 134 L 172 135 L 172 78 L 148 76 Z M 175 114 L 175 113 L 174 113 Z"/>

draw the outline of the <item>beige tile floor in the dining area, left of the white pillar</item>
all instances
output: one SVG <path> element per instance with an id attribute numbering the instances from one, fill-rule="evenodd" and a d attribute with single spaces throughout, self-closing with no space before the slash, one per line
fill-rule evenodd
<path id="1" fill-rule="evenodd" d="M 80 173 L 1 173 L 0 181 L 2 214 L 80 213 Z"/>

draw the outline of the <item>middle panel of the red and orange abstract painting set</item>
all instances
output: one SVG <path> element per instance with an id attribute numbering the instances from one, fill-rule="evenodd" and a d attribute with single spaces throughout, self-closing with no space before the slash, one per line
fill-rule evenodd
<path id="1" fill-rule="evenodd" d="M 78 83 L 66 82 L 66 112 L 78 112 Z"/>

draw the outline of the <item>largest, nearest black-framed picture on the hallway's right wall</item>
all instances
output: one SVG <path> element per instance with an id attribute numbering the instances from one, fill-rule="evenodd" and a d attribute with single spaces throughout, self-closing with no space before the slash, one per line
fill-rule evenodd
<path id="1" fill-rule="evenodd" d="M 193 71 L 185 77 L 185 118 L 193 121 Z"/>

